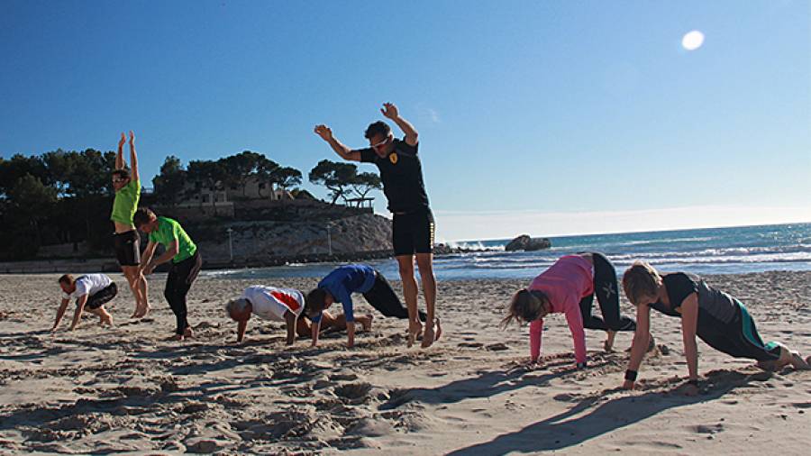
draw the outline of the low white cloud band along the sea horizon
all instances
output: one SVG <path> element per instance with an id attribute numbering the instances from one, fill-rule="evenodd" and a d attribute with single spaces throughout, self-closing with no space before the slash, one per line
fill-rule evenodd
<path id="1" fill-rule="evenodd" d="M 603 212 L 435 210 L 437 242 L 811 222 L 811 207 L 705 205 Z"/>

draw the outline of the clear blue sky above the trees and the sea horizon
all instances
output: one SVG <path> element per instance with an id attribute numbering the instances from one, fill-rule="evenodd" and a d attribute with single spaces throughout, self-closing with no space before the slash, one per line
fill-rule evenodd
<path id="1" fill-rule="evenodd" d="M 241 150 L 306 175 L 340 160 L 314 124 L 361 147 L 391 101 L 421 133 L 441 240 L 811 221 L 809 17 L 786 0 L 5 0 L 0 156 L 112 150 L 132 129 L 149 178 L 170 154 Z"/>

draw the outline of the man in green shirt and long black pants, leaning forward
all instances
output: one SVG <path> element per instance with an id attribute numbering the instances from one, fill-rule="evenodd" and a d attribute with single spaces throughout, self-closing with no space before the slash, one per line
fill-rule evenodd
<path id="1" fill-rule="evenodd" d="M 150 235 L 150 242 L 141 258 L 141 273 L 148 276 L 159 264 L 167 261 L 172 263 L 163 291 L 163 296 L 178 319 L 178 328 L 172 339 L 182 341 L 189 338 L 192 336 L 192 329 L 187 321 L 186 295 L 203 267 L 203 259 L 197 246 L 180 223 L 169 217 L 159 217 L 146 207 L 135 211 L 132 220 L 140 231 Z M 153 258 L 158 244 L 163 245 L 166 251 Z"/>

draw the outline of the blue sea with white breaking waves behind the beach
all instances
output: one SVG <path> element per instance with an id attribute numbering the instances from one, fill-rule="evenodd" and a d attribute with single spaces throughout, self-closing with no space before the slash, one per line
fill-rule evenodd
<path id="1" fill-rule="evenodd" d="M 697 274 L 734 274 L 767 270 L 811 270 L 811 223 L 734 228 L 709 228 L 652 233 L 590 234 L 551 237 L 551 249 L 507 252 L 509 240 L 453 242 L 474 249 L 437 257 L 439 280 L 465 278 L 533 278 L 560 256 L 579 251 L 601 251 L 618 274 L 634 260 L 647 260 L 657 269 Z M 496 251 L 486 251 L 495 249 Z M 369 264 L 387 278 L 398 279 L 395 260 Z M 275 268 L 207 271 L 219 278 L 323 277 L 332 263 L 296 264 Z"/>

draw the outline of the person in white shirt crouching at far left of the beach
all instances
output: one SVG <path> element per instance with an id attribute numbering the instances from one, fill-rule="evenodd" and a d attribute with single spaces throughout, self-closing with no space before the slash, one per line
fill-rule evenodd
<path id="1" fill-rule="evenodd" d="M 110 302 L 118 294 L 118 287 L 105 274 L 87 274 L 78 278 L 65 274 L 59 278 L 59 287 L 62 288 L 64 296 L 62 296 L 62 304 L 57 311 L 56 322 L 50 328 L 51 332 L 56 331 L 72 298 L 76 298 L 76 311 L 73 313 L 70 331 L 76 328 L 85 309 L 93 315 L 98 315 L 99 325 L 113 325 L 113 317 L 105 310 L 105 303 Z"/>

